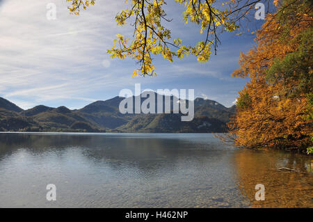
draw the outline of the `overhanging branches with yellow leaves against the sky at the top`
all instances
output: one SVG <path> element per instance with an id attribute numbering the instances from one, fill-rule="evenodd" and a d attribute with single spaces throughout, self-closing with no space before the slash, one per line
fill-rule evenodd
<path id="1" fill-rule="evenodd" d="M 88 6 L 97 1 L 90 0 L 66 0 L 70 1 L 70 12 L 79 15 L 80 10 L 86 10 Z M 174 1 L 174 0 L 172 0 Z M 198 61 L 208 61 L 212 49 L 217 50 L 220 40 L 218 35 L 222 32 L 232 32 L 239 29 L 243 19 L 248 18 L 250 10 L 255 3 L 261 0 L 175 0 L 184 5 L 183 21 L 191 22 L 199 26 L 200 33 L 204 34 L 203 40 L 196 45 L 184 45 L 182 38 L 172 39 L 171 30 L 166 23 L 172 19 L 166 13 L 165 0 L 131 0 L 125 1 L 128 7 L 122 10 L 115 19 L 119 26 L 131 24 L 134 26 L 134 35 L 116 35 L 113 47 L 107 52 L 112 58 L 133 58 L 138 61 L 139 67 L 134 70 L 133 77 L 138 75 L 156 74 L 152 59 L 155 55 L 161 55 L 172 62 L 174 58 L 183 58 L 192 54 Z M 277 1 L 277 0 L 275 0 Z M 270 0 L 262 1 L 266 4 Z M 254 16 L 255 10 L 253 10 Z"/>

